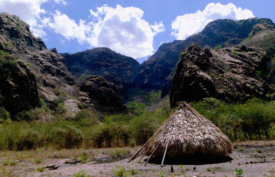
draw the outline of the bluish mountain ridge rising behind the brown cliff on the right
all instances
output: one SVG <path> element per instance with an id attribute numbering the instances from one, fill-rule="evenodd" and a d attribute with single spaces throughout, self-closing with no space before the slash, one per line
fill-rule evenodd
<path id="1" fill-rule="evenodd" d="M 232 21 L 223 19 L 208 23 L 202 32 L 186 38 L 186 40 L 175 40 L 173 43 L 164 43 L 157 52 L 146 62 L 135 77 L 135 86 L 144 89 L 162 89 L 166 78 L 173 71 L 179 60 L 179 55 L 186 47 L 196 44 L 203 49 L 230 47 L 241 43 L 249 36 L 253 36 L 259 26 L 274 30 L 274 23 L 270 19 L 247 19 Z M 170 92 L 170 80 L 164 86 L 162 96 Z"/>

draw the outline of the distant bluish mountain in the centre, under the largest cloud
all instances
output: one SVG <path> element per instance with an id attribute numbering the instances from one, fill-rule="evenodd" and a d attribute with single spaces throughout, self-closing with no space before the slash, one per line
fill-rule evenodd
<path id="1" fill-rule="evenodd" d="M 75 75 L 101 75 L 119 88 L 130 86 L 140 67 L 131 57 L 122 56 L 109 48 L 100 47 L 76 54 L 62 54 L 68 70 Z"/>

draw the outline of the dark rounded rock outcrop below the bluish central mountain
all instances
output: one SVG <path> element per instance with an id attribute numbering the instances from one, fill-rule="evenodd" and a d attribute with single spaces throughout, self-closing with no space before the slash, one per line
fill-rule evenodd
<path id="1" fill-rule="evenodd" d="M 93 104 L 100 111 L 108 113 L 126 112 L 118 86 L 105 78 L 92 75 L 80 86 L 80 91 L 89 95 L 90 104 Z"/>

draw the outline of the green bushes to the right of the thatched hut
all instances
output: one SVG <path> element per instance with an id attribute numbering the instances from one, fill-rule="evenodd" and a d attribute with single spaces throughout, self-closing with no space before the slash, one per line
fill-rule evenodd
<path id="1" fill-rule="evenodd" d="M 250 99 L 243 104 L 225 104 L 214 98 L 193 102 L 192 107 L 207 117 L 232 141 L 275 138 L 275 102 Z"/>

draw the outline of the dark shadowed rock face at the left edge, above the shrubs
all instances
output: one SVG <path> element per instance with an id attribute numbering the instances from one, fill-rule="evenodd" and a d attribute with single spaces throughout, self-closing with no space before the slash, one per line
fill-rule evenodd
<path id="1" fill-rule="evenodd" d="M 11 116 L 40 105 L 34 74 L 24 62 L 0 60 L 1 104 Z"/>

